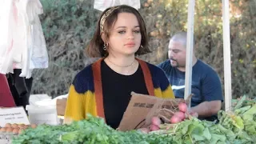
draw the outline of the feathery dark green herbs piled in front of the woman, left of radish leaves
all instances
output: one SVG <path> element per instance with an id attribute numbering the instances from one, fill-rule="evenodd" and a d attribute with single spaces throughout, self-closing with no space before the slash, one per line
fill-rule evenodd
<path id="1" fill-rule="evenodd" d="M 58 143 L 90 143 L 90 144 L 168 144 L 175 143 L 167 135 L 142 134 L 138 130 L 122 132 L 107 126 L 102 118 L 88 115 L 83 121 L 70 125 L 41 125 L 36 129 L 27 129 L 17 138 L 14 144 L 58 144 Z"/>

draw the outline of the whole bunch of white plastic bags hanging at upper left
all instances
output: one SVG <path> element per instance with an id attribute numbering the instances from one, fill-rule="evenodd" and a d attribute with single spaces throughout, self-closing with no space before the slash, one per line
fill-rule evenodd
<path id="1" fill-rule="evenodd" d="M 0 73 L 22 69 L 30 78 L 35 68 L 48 67 L 46 42 L 38 17 L 39 0 L 2 0 L 0 6 Z"/>

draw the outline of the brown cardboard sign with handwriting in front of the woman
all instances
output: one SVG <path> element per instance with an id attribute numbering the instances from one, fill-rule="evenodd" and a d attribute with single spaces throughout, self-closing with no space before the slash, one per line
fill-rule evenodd
<path id="1" fill-rule="evenodd" d="M 165 110 L 178 111 L 178 103 L 185 102 L 182 98 L 157 98 L 145 94 L 132 93 L 126 112 L 123 114 L 122 121 L 118 130 L 137 130 L 150 126 L 153 116 L 171 117 Z"/>

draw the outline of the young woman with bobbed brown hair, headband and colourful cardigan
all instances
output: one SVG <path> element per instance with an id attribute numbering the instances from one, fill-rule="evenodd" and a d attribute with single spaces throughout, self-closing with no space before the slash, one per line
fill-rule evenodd
<path id="1" fill-rule="evenodd" d="M 116 129 L 132 91 L 174 98 L 164 72 L 135 58 L 150 52 L 146 34 L 142 16 L 133 7 L 114 6 L 102 13 L 86 49 L 90 57 L 101 58 L 75 76 L 66 103 L 65 122 L 82 120 L 90 113 L 105 118 L 106 124 Z"/>

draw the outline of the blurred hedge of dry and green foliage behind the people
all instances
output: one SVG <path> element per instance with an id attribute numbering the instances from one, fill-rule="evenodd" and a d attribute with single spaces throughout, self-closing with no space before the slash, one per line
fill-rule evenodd
<path id="1" fill-rule="evenodd" d="M 94 34 L 101 11 L 94 10 L 93 0 L 41 0 L 40 15 L 50 66 L 34 70 L 33 94 L 53 98 L 67 94 L 74 75 L 95 59 L 87 58 L 84 49 Z M 141 0 L 139 12 L 145 19 L 150 38 L 150 54 L 140 56 L 158 64 L 167 58 L 171 35 L 186 30 L 187 0 Z M 256 2 L 230 0 L 230 46 L 233 97 L 256 96 Z M 196 55 L 213 66 L 223 83 L 222 2 L 196 1 L 194 38 Z"/>

